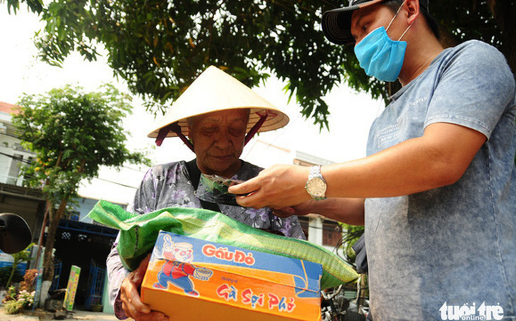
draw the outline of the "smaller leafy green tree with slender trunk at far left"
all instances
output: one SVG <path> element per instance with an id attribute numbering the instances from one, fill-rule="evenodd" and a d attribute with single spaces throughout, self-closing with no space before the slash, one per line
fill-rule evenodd
<path id="1" fill-rule="evenodd" d="M 21 175 L 29 187 L 41 188 L 47 201 L 45 286 L 54 276 L 52 248 L 59 219 L 76 197 L 78 184 L 97 176 L 101 165 L 148 162 L 140 152 L 129 152 L 124 146 L 122 119 L 131 109 L 128 99 L 112 85 L 90 93 L 66 86 L 45 95 L 23 95 L 18 103 L 22 107 L 13 124 L 22 145 L 36 155 L 21 167 Z"/>

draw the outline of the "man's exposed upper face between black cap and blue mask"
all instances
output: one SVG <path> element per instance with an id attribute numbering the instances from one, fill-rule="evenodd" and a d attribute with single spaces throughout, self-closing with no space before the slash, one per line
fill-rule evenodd
<path id="1" fill-rule="evenodd" d="M 358 44 L 366 35 L 377 28 L 382 26 L 387 28 L 393 17 L 392 10 L 383 4 L 376 4 L 354 11 L 351 16 L 351 35 L 355 38 L 355 43 Z M 398 40 L 402 32 L 396 30 L 397 20 L 394 19 L 389 30 L 387 30 L 389 37 L 394 40 Z"/>

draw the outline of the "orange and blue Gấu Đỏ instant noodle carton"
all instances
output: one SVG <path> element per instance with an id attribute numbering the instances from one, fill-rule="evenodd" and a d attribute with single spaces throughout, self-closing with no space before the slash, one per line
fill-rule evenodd
<path id="1" fill-rule="evenodd" d="M 321 320 L 321 265 L 160 231 L 141 298 L 170 320 Z"/>

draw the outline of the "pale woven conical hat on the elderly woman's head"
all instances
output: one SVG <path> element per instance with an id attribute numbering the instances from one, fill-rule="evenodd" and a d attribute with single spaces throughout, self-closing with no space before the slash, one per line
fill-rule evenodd
<path id="1" fill-rule="evenodd" d="M 269 116 L 267 116 L 262 127 L 259 128 L 259 132 L 273 131 L 288 123 L 288 116 L 283 111 L 274 107 L 270 102 L 267 102 L 231 75 L 215 66 L 209 66 L 176 99 L 172 107 L 168 109 L 167 114 L 163 116 L 163 119 L 158 121 L 156 129 L 147 136 L 156 138 L 161 128 L 175 122 L 178 122 L 181 126 L 181 133 L 187 135 L 187 119 L 189 117 L 213 111 L 242 108 L 251 109 L 247 132 L 264 114 Z M 174 136 L 177 136 L 177 134 L 173 131 L 170 131 L 167 135 L 167 137 Z"/>

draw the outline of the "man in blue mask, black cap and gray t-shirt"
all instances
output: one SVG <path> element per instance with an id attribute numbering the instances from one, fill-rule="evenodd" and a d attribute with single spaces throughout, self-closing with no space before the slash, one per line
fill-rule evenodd
<path id="1" fill-rule="evenodd" d="M 503 55 L 478 41 L 443 49 L 426 0 L 351 1 L 322 29 L 355 44 L 368 75 L 403 85 L 368 156 L 273 166 L 230 191 L 282 216 L 365 224 L 375 321 L 516 320 L 516 89 Z"/>

